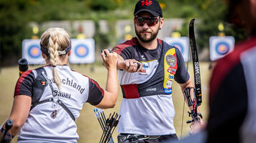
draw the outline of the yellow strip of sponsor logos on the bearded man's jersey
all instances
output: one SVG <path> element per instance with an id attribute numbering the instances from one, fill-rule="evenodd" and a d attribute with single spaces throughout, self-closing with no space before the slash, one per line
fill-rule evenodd
<path id="1" fill-rule="evenodd" d="M 165 80 L 163 82 L 163 88 L 165 94 L 172 94 L 172 84 L 174 80 L 174 75 L 176 73 L 176 70 L 178 68 L 177 65 L 177 58 L 176 58 L 176 53 L 175 49 L 169 49 L 165 53 L 165 61 L 164 61 L 164 66 L 165 66 Z"/>

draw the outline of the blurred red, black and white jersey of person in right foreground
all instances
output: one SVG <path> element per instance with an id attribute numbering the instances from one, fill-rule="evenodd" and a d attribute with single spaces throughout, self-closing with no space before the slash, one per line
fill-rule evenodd
<path id="1" fill-rule="evenodd" d="M 254 37 L 216 64 L 210 84 L 208 142 L 256 141 L 255 61 Z"/>

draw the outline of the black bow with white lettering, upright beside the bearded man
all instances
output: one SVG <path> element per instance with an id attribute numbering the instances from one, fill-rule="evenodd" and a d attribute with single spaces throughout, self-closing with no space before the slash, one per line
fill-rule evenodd
<path id="1" fill-rule="evenodd" d="M 193 61 L 193 73 L 194 73 L 194 82 L 195 88 L 187 88 L 184 92 L 185 97 L 188 102 L 188 107 L 192 107 L 191 112 L 188 112 L 188 116 L 192 117 L 191 120 L 188 120 L 186 123 L 189 124 L 191 122 L 201 122 L 203 116 L 197 112 L 197 107 L 199 107 L 202 103 L 202 94 L 201 94 L 201 78 L 200 78 L 200 68 L 198 61 L 198 54 L 196 49 L 196 38 L 194 32 L 194 21 L 195 19 L 191 19 L 189 24 L 189 42 L 191 46 L 191 54 Z M 193 89 L 193 91 L 191 91 Z M 193 92 L 194 98 L 191 99 L 191 92 Z M 201 119 L 199 117 L 201 117 Z"/>

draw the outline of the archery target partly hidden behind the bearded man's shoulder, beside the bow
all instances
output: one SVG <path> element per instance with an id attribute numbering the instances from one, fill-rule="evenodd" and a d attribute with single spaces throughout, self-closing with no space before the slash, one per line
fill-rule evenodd
<path id="1" fill-rule="evenodd" d="M 165 37 L 163 39 L 166 43 L 170 44 L 171 46 L 175 46 L 180 50 L 180 53 L 183 56 L 184 61 L 188 61 L 189 59 L 189 41 L 188 37 L 181 36 L 181 37 Z"/>

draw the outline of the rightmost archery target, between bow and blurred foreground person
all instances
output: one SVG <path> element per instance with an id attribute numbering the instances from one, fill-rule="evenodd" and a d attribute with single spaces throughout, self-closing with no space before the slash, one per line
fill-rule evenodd
<path id="1" fill-rule="evenodd" d="M 215 61 L 234 50 L 233 36 L 211 36 L 209 41 L 211 61 Z"/>

